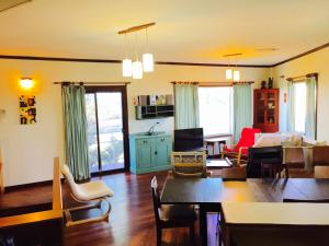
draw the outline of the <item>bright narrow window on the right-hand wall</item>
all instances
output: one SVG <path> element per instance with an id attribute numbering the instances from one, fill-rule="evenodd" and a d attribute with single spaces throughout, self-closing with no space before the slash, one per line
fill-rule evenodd
<path id="1" fill-rule="evenodd" d="M 305 133 L 306 83 L 294 83 L 295 131 Z"/>

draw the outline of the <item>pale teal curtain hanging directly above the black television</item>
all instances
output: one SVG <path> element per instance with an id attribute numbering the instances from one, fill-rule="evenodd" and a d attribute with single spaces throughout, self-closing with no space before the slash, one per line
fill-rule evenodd
<path id="1" fill-rule="evenodd" d="M 174 103 L 175 129 L 197 128 L 200 126 L 197 84 L 175 84 Z"/>

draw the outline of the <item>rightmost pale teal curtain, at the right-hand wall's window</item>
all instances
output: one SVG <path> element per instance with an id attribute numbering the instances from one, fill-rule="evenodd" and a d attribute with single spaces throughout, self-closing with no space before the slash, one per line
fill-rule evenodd
<path id="1" fill-rule="evenodd" d="M 306 80 L 306 120 L 305 136 L 316 139 L 317 127 L 317 77 L 310 77 Z"/>

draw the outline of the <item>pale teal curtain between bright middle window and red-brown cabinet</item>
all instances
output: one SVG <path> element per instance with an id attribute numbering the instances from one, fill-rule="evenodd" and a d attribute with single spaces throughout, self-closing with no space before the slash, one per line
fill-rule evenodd
<path id="1" fill-rule="evenodd" d="M 251 85 L 234 85 L 234 141 L 237 143 L 245 127 L 252 126 Z"/>

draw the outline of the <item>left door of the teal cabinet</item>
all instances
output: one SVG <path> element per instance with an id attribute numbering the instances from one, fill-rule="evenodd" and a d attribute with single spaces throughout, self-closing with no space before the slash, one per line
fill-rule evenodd
<path id="1" fill-rule="evenodd" d="M 151 166 L 151 139 L 136 140 L 136 164 L 137 168 L 147 168 Z"/>

